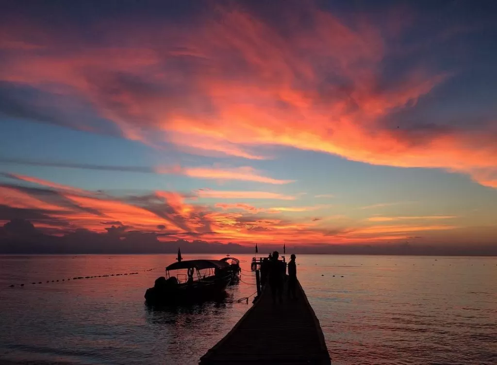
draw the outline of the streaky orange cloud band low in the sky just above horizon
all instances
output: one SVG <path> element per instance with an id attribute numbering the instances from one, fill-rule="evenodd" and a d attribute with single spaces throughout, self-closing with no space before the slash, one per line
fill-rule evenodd
<path id="1" fill-rule="evenodd" d="M 22 180 L 43 182 L 50 190 L 0 185 L 1 212 L 5 214 L 10 209 L 16 214 L 31 214 L 37 228 L 59 235 L 77 228 L 104 233 L 109 225 L 117 225 L 123 231 L 158 233 L 163 235 L 160 236 L 161 240 L 167 241 L 194 238 L 242 244 L 282 241 L 294 244 L 333 244 L 397 242 L 406 240 L 415 232 L 424 232 L 436 238 L 436 232 L 461 228 L 434 224 L 436 221 L 456 218 L 455 216 L 375 216 L 366 221 L 330 216 L 323 220 L 311 220 L 309 217 L 299 218 L 287 213 L 317 210 L 327 206 L 257 208 L 246 203 L 218 202 L 210 207 L 197 202 L 189 203 L 178 192 L 155 191 L 143 196 L 111 197 L 104 192 L 84 191 L 80 194 L 70 186 L 34 177 L 23 176 Z M 56 194 L 48 194 L 49 192 Z M 197 194 L 200 198 L 219 199 L 295 199 L 293 196 L 258 191 L 199 190 Z M 54 200 L 41 200 L 47 196 L 54 197 Z M 5 210 L 5 207 L 8 209 Z M 397 220 L 403 223 L 426 220 L 429 223 L 377 224 Z M 369 224 L 371 225 L 368 226 Z"/>

